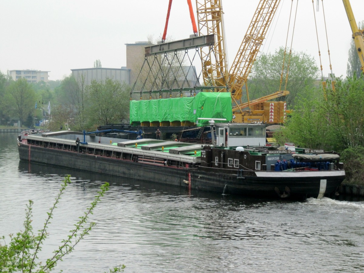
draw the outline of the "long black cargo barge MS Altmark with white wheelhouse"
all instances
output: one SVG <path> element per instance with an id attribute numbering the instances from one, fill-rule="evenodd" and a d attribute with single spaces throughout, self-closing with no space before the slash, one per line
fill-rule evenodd
<path id="1" fill-rule="evenodd" d="M 345 178 L 335 152 L 265 146 L 265 124 L 214 126 L 213 145 L 34 130 L 22 132 L 17 145 L 22 161 L 221 194 L 322 198 Z"/>

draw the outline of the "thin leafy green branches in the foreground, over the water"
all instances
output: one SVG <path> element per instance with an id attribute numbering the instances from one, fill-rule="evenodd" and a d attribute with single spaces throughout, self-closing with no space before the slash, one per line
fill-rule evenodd
<path id="1" fill-rule="evenodd" d="M 48 225 L 51 223 L 50 220 L 53 218 L 54 210 L 69 183 L 71 183 L 70 175 L 67 175 L 55 198 L 54 205 L 50 208 L 50 211 L 47 212 L 47 218 L 43 229 L 39 230 L 37 235 L 33 233 L 32 227 L 33 201 L 29 200 L 29 204 L 25 210 L 24 231 L 16 233 L 15 236 L 11 234 L 9 245 L 0 244 L 0 272 L 50 272 L 55 268 L 59 261 L 62 261 L 64 256 L 74 250 L 80 240 L 90 233 L 96 223 L 89 222 L 89 217 L 98 202 L 100 202 L 101 197 L 103 197 L 109 189 L 109 184 L 107 182 L 101 186 L 98 195 L 95 196 L 94 201 L 91 203 L 90 207 L 86 209 L 84 214 L 79 217 L 79 221 L 74 225 L 74 228 L 70 230 L 70 234 L 66 239 L 62 241 L 62 245 L 60 245 L 46 261 L 39 261 L 38 254 L 49 234 Z M 3 236 L 2 239 L 5 241 L 5 236 Z M 124 265 L 119 265 L 110 269 L 110 272 L 121 272 L 124 268 Z"/>

